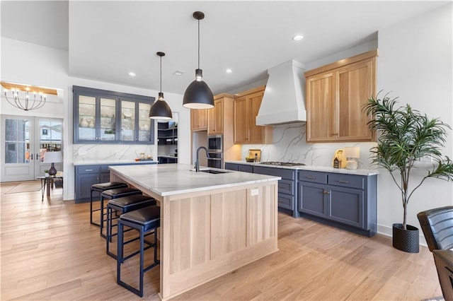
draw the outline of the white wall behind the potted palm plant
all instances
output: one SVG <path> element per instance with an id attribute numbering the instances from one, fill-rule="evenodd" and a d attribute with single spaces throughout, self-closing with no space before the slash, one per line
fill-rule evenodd
<path id="1" fill-rule="evenodd" d="M 452 4 L 379 30 L 378 40 L 378 90 L 398 96 L 401 105 L 409 103 L 428 117 L 440 117 L 453 125 Z M 443 152 L 450 158 L 452 136 L 449 131 Z M 378 230 L 391 235 L 391 225 L 403 221 L 403 206 L 391 177 L 384 170 L 380 172 Z M 408 223 L 419 227 L 418 212 L 452 204 L 452 182 L 428 179 L 408 204 Z"/>

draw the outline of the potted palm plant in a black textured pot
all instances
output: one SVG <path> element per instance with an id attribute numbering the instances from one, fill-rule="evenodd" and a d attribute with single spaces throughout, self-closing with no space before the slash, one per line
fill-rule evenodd
<path id="1" fill-rule="evenodd" d="M 365 112 L 372 115 L 369 129 L 378 135 L 377 146 L 370 150 L 372 163 L 389 171 L 401 191 L 403 223 L 393 225 L 393 246 L 404 252 L 417 253 L 418 228 L 406 223 L 407 206 L 425 179 L 453 179 L 453 162 L 441 153 L 447 129 L 451 128 L 438 118 L 430 119 L 413 110 L 410 105 L 396 107 L 397 98 L 388 95 L 380 100 L 378 94 L 377 99 L 369 99 L 364 106 Z M 425 175 L 414 175 L 413 169 L 421 167 L 423 158 L 432 158 L 433 164 L 425 165 Z"/>

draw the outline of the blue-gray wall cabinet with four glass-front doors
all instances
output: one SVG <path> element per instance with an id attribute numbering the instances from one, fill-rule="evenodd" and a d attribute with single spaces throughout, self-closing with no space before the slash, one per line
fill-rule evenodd
<path id="1" fill-rule="evenodd" d="M 154 98 L 75 86 L 74 143 L 154 143 Z"/>

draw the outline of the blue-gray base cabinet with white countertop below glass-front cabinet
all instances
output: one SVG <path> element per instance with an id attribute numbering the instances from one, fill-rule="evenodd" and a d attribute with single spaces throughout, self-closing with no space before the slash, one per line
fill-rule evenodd
<path id="1" fill-rule="evenodd" d="M 132 163 L 134 165 L 141 164 L 156 164 L 156 162 L 139 162 Z M 102 164 L 102 165 L 76 165 L 74 168 L 74 200 L 76 203 L 84 203 L 90 201 L 91 185 L 98 183 L 110 182 L 109 166 L 114 165 L 130 165 L 127 163 L 118 164 Z M 99 194 L 93 192 L 93 199 L 98 200 Z"/>

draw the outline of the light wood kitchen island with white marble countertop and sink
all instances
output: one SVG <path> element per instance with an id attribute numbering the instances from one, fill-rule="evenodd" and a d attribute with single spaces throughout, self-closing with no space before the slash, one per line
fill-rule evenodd
<path id="1" fill-rule="evenodd" d="M 161 206 L 162 300 L 278 250 L 280 177 L 233 171 L 211 174 L 191 167 L 110 167 L 112 181 L 142 190 Z"/>

